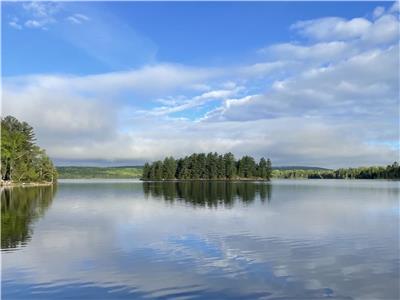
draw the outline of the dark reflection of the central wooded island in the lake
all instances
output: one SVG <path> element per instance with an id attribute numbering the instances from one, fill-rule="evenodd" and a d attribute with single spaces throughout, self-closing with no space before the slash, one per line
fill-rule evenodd
<path id="1" fill-rule="evenodd" d="M 271 185 L 260 182 L 230 181 L 175 181 L 144 182 L 143 192 L 147 198 L 163 198 L 165 201 L 184 201 L 193 206 L 232 207 L 236 200 L 251 203 L 271 200 Z"/>

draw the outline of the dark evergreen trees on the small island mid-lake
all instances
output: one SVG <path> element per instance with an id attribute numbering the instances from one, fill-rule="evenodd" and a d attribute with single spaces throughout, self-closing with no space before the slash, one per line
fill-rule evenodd
<path id="1" fill-rule="evenodd" d="M 251 156 L 236 160 L 232 153 L 193 153 L 184 158 L 172 156 L 143 167 L 143 180 L 187 179 L 262 179 L 271 178 L 270 159 L 261 158 L 258 163 Z"/>

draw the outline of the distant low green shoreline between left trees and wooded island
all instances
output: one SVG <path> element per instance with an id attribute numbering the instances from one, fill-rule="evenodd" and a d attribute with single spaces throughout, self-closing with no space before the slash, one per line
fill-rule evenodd
<path id="1" fill-rule="evenodd" d="M 147 168 L 147 169 L 146 169 Z M 150 168 L 143 167 L 57 167 L 58 177 L 63 179 L 90 178 L 141 178 L 142 174 L 150 178 Z"/>

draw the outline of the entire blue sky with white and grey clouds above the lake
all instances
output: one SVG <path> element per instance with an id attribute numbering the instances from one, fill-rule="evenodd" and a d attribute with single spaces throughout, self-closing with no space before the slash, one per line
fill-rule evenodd
<path id="1" fill-rule="evenodd" d="M 2 116 L 57 165 L 399 160 L 398 2 L 2 2 Z"/>

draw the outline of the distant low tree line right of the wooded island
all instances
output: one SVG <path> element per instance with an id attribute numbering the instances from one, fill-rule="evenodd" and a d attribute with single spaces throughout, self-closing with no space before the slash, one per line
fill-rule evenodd
<path id="1" fill-rule="evenodd" d="M 308 178 L 308 179 L 400 179 L 398 162 L 391 165 L 340 168 L 337 170 L 274 170 L 273 178 Z"/>

